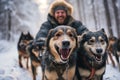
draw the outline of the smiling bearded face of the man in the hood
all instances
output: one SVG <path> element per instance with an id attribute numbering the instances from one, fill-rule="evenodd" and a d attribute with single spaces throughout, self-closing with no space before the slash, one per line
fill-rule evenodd
<path id="1" fill-rule="evenodd" d="M 54 17 L 59 24 L 63 24 L 67 17 L 67 14 L 64 10 L 57 10 L 55 11 Z"/>

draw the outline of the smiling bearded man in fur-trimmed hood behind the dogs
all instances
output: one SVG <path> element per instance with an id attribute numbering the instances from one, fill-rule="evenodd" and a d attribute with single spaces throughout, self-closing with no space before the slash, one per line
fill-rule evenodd
<path id="1" fill-rule="evenodd" d="M 51 6 L 47 16 L 47 21 L 42 24 L 36 35 L 36 41 L 45 40 L 50 29 L 58 25 L 68 25 L 76 29 L 77 34 L 81 35 L 88 31 L 80 21 L 72 17 L 73 7 L 65 0 L 55 0 Z"/>

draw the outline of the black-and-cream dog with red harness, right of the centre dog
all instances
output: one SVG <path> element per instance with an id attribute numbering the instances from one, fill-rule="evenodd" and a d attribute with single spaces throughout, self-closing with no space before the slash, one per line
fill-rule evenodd
<path id="1" fill-rule="evenodd" d="M 102 80 L 107 46 L 108 38 L 104 29 L 82 35 L 77 52 L 76 80 Z"/>

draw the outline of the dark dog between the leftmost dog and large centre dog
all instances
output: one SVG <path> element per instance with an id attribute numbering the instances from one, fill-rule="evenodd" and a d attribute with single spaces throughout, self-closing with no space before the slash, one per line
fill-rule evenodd
<path id="1" fill-rule="evenodd" d="M 37 67 L 41 66 L 42 62 L 42 55 L 45 52 L 45 47 L 41 46 L 44 45 L 45 42 L 35 42 L 34 40 L 31 41 L 26 50 L 28 54 L 30 55 L 30 60 L 31 60 L 31 69 L 32 69 L 32 74 L 33 74 L 33 80 L 36 80 L 36 75 L 37 75 Z"/>

